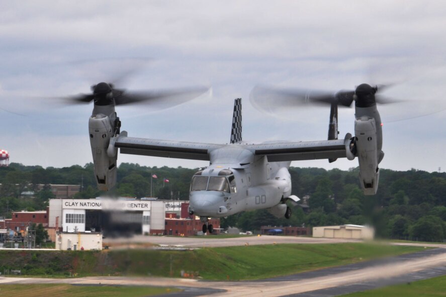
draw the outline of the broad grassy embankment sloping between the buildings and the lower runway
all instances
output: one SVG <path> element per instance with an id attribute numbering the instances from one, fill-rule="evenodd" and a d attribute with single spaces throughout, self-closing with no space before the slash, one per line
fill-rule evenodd
<path id="1" fill-rule="evenodd" d="M 0 251 L 0 271 L 67 277 L 138 275 L 180 277 L 194 272 L 204 279 L 243 280 L 287 275 L 423 250 L 415 246 L 370 243 L 278 244 L 174 250 Z M 198 272 L 198 273 L 197 273 Z"/>

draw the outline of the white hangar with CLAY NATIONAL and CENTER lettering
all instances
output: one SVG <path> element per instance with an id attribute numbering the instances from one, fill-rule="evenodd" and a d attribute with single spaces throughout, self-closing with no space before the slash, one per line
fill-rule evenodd
<path id="1" fill-rule="evenodd" d="M 135 199 L 51 199 L 48 227 L 65 233 L 160 235 L 164 233 L 165 212 L 180 212 L 182 203 Z"/>

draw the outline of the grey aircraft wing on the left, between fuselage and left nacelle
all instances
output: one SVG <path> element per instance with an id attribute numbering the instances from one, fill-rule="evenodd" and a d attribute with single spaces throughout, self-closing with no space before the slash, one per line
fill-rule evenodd
<path id="1" fill-rule="evenodd" d="M 127 137 L 126 131 L 122 131 L 115 140 L 115 147 L 119 148 L 122 154 L 205 161 L 209 161 L 210 151 L 223 146 L 209 143 Z"/>

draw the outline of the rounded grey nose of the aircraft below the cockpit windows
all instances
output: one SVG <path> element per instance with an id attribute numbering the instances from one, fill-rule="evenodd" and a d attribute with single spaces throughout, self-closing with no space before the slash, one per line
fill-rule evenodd
<path id="1" fill-rule="evenodd" d="M 223 205 L 224 194 L 214 191 L 194 191 L 189 197 L 190 208 L 197 216 L 213 216 Z"/>

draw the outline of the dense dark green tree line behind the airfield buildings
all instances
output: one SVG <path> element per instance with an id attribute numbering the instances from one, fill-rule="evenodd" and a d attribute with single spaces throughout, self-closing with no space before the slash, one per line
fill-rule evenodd
<path id="1" fill-rule="evenodd" d="M 188 200 L 193 174 L 198 169 L 147 167 L 122 163 L 114 194 L 129 197 Z M 221 220 L 222 227 L 244 231 L 260 226 L 326 226 L 339 224 L 373 225 L 384 238 L 442 241 L 446 238 L 446 173 L 421 170 L 381 169 L 376 195 L 366 196 L 359 183 L 359 168 L 349 170 L 291 167 L 292 193 L 305 204 L 292 206 L 290 220 L 277 219 L 266 210 L 244 212 Z M 152 176 L 156 175 L 157 178 Z M 167 178 L 169 182 L 163 182 Z M 12 211 L 42 210 L 53 194 L 46 186 L 24 197 L 37 184 L 82 184 L 76 198 L 92 198 L 102 193 L 96 188 L 93 163 L 84 166 L 43 168 L 12 163 L 0 167 L 0 216 Z"/>

